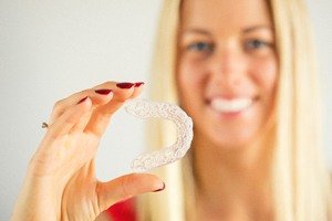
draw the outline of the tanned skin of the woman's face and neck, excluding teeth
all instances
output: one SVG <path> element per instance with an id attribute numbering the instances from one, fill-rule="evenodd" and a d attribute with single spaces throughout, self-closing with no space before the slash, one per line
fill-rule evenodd
<path id="1" fill-rule="evenodd" d="M 185 0 L 180 18 L 176 78 L 195 125 L 197 220 L 272 220 L 266 135 L 278 62 L 267 2 Z M 252 104 L 212 105 L 237 98 Z"/>

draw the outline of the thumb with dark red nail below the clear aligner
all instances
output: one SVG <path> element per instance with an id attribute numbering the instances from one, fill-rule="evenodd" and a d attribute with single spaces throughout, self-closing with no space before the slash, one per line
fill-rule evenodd
<path id="1" fill-rule="evenodd" d="M 157 192 L 165 189 L 165 183 L 149 173 L 131 173 L 108 182 L 98 182 L 97 198 L 100 210 L 104 211 L 118 201 L 145 192 Z"/>

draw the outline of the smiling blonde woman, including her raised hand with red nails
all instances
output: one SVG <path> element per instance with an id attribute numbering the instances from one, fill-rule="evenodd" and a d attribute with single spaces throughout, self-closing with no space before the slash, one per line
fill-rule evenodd
<path id="1" fill-rule="evenodd" d="M 181 165 L 158 170 L 168 188 L 137 202 L 142 220 L 332 219 L 308 29 L 299 0 L 165 1 L 153 99 L 177 102 L 195 136 Z M 152 175 L 108 183 L 94 176 L 110 117 L 142 86 L 105 83 L 55 105 L 14 218 L 93 220 L 116 201 L 164 189 Z M 148 128 L 154 147 L 174 136 L 164 123 Z"/>

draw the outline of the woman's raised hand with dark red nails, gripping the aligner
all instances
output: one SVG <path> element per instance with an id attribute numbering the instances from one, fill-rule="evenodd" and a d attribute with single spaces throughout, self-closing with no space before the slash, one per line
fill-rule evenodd
<path id="1" fill-rule="evenodd" d="M 148 173 L 108 182 L 95 177 L 95 155 L 112 115 L 142 87 L 106 82 L 56 102 L 48 131 L 30 161 L 12 220 L 94 220 L 117 201 L 165 188 Z"/>

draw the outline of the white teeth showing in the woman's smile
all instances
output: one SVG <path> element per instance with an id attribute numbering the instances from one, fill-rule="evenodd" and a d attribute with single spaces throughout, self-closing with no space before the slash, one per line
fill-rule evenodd
<path id="1" fill-rule="evenodd" d="M 236 113 L 241 112 L 252 104 L 250 98 L 235 98 L 235 99 L 222 99 L 214 98 L 211 106 L 217 112 L 222 113 Z"/>

